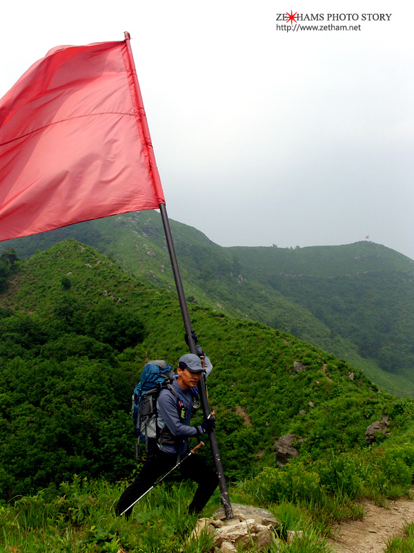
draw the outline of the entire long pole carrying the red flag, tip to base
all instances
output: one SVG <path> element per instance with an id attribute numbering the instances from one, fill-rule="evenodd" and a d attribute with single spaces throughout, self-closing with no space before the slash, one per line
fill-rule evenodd
<path id="1" fill-rule="evenodd" d="M 130 62 L 130 71 L 132 73 L 132 78 L 134 79 L 135 84 L 135 93 L 137 94 L 137 104 L 139 109 L 139 116 L 141 118 L 141 128 L 144 133 L 144 143 L 146 144 L 146 147 L 148 149 L 148 161 L 150 164 L 150 172 L 152 174 L 152 179 L 155 182 L 156 186 L 161 187 L 161 179 L 159 178 L 159 173 L 157 169 L 157 164 L 155 163 L 155 155 L 154 150 L 152 149 L 152 143 L 150 138 L 150 131 L 148 128 L 148 122 L 146 119 L 146 113 L 144 110 L 144 102 L 142 101 L 141 97 L 141 91 L 139 88 L 138 83 L 138 77 L 137 77 L 137 71 L 135 69 L 135 63 L 134 58 L 132 57 L 132 50 L 130 47 L 130 34 L 129 32 L 124 32 L 125 36 L 125 43 L 126 48 L 128 52 L 128 59 Z M 191 335 L 192 327 L 191 327 L 191 321 L 190 321 L 190 315 L 188 313 L 188 307 L 186 302 L 186 295 L 184 294 L 184 288 L 181 281 L 181 275 L 179 273 L 178 263 L 177 263 L 177 256 L 175 254 L 175 247 L 174 243 L 172 242 L 172 234 L 170 229 L 170 222 L 168 221 L 168 215 L 166 210 L 165 203 L 159 203 L 159 210 L 161 212 L 161 220 L 164 225 L 164 233 L 166 235 L 166 241 L 167 241 L 167 247 L 168 247 L 168 253 L 170 254 L 170 261 L 172 266 L 172 273 L 174 274 L 174 280 L 175 285 L 177 288 L 177 294 L 178 294 L 178 300 L 179 300 L 179 306 L 181 308 L 181 315 L 184 322 L 184 328 L 186 330 L 186 335 L 188 336 L 188 346 L 190 348 L 190 353 L 194 353 L 197 355 L 197 348 L 195 347 L 195 342 L 193 340 L 193 337 Z M 203 415 L 204 418 L 208 419 L 210 417 L 210 406 L 208 405 L 207 400 L 207 393 L 206 393 L 206 383 L 204 382 L 204 378 L 201 378 L 198 384 L 199 388 L 199 396 L 201 401 L 201 407 L 203 409 Z M 217 471 L 217 476 L 219 478 L 219 489 L 220 489 L 220 495 L 221 495 L 221 503 L 224 507 L 224 512 L 226 514 L 226 518 L 233 518 L 233 509 L 231 507 L 230 498 L 228 496 L 228 489 L 226 485 L 226 478 L 224 476 L 224 470 L 223 465 L 221 464 L 221 458 L 219 454 L 219 447 L 217 444 L 217 438 L 215 435 L 215 431 L 211 429 L 208 432 L 208 438 L 210 440 L 210 447 L 211 452 L 213 453 L 213 461 L 215 463 L 215 469 Z"/>

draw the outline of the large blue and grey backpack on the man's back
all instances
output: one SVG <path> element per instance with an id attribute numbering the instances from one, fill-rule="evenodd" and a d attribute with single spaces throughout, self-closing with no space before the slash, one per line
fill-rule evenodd
<path id="1" fill-rule="evenodd" d="M 142 369 L 141 380 L 134 388 L 132 422 L 135 434 L 146 444 L 146 451 L 148 451 L 148 440 L 159 438 L 157 399 L 161 390 L 168 388 L 177 398 L 178 404 L 178 394 L 171 385 L 174 376 L 171 366 L 166 361 L 150 361 Z"/>

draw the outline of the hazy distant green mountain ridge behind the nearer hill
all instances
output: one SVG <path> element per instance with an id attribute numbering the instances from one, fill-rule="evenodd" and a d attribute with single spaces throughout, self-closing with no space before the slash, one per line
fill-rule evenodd
<path id="1" fill-rule="evenodd" d="M 189 301 L 261 321 L 331 351 L 378 385 L 414 395 L 414 262 L 370 242 L 335 247 L 220 247 L 171 221 Z M 159 214 L 141 212 L 4 243 L 21 256 L 73 236 L 139 279 L 174 290 Z"/>

